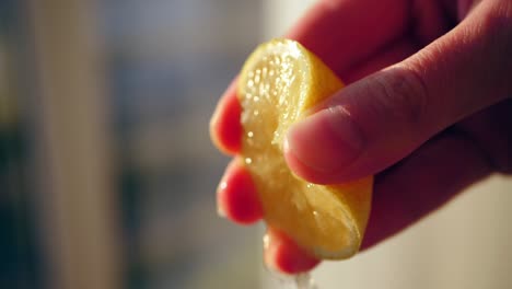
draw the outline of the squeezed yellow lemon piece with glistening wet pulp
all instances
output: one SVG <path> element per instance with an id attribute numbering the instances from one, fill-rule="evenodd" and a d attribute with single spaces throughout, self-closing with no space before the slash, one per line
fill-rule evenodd
<path id="1" fill-rule="evenodd" d="M 261 44 L 238 81 L 242 158 L 265 221 L 318 258 L 347 258 L 360 247 L 370 215 L 373 177 L 316 185 L 288 167 L 282 142 L 305 111 L 344 86 L 319 58 L 296 42 Z"/>

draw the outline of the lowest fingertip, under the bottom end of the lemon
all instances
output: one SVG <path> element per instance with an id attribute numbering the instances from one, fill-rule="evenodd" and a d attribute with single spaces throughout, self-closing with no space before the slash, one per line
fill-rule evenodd
<path id="1" fill-rule="evenodd" d="M 270 269 L 279 273 L 305 273 L 319 264 L 317 258 L 276 229 L 268 229 L 264 238 L 264 250 L 265 263 Z"/>

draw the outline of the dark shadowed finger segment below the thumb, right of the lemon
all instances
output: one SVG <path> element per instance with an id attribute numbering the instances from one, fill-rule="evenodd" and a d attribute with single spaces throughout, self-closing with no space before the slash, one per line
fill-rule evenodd
<path id="1" fill-rule="evenodd" d="M 446 134 L 376 175 L 372 215 L 362 247 L 404 230 L 488 175 L 487 162 L 473 140 Z"/>

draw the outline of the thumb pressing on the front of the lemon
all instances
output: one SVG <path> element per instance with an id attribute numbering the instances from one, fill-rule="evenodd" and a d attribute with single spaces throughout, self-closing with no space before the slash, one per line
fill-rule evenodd
<path id="1" fill-rule="evenodd" d="M 512 2 L 482 1 L 454 30 L 293 125 L 290 169 L 313 183 L 375 174 L 465 116 L 512 95 Z"/>

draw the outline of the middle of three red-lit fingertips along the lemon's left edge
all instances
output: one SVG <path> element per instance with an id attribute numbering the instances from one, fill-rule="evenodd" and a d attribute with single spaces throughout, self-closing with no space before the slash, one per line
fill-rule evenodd
<path id="1" fill-rule="evenodd" d="M 225 170 L 217 190 L 218 211 L 238 224 L 252 224 L 263 218 L 263 208 L 249 172 L 234 159 Z"/>

